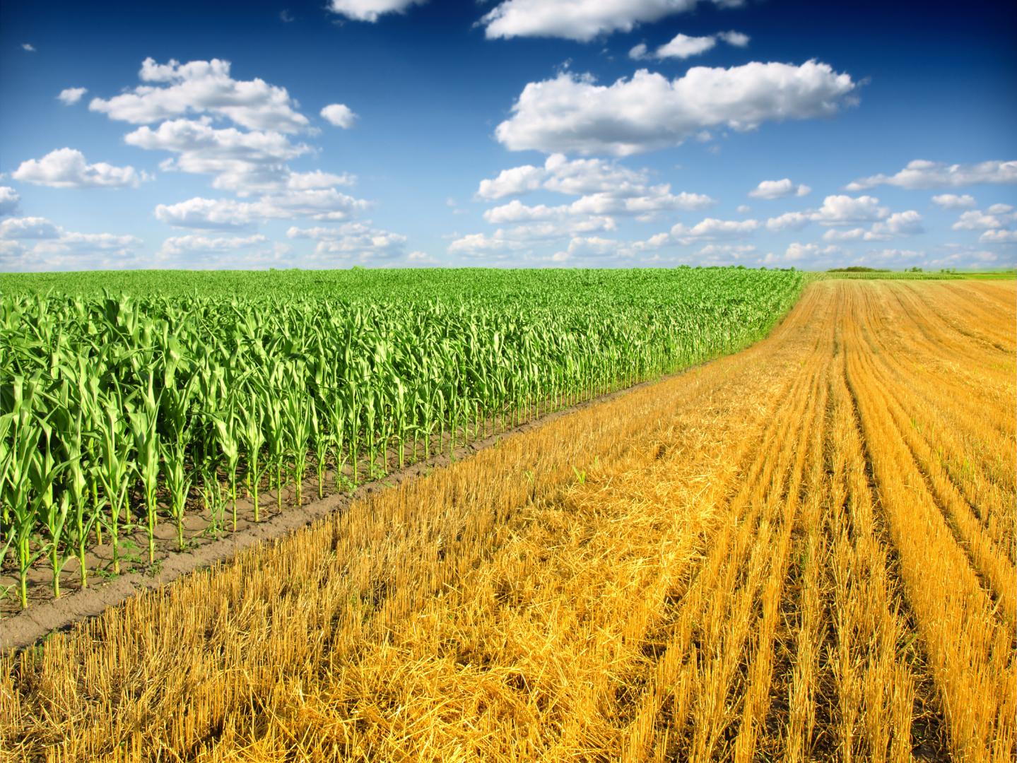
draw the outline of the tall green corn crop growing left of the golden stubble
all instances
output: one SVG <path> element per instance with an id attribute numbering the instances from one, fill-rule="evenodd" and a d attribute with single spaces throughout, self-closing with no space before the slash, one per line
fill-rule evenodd
<path id="1" fill-rule="evenodd" d="M 0 276 L 0 563 L 76 559 L 195 502 L 318 495 L 760 338 L 802 275 L 671 270 Z M 38 567 L 37 567 L 38 569 Z M 0 588 L 2 590 L 2 588 Z"/>

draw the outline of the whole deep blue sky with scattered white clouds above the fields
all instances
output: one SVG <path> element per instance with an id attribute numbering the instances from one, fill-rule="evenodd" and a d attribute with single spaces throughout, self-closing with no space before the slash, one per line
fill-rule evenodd
<path id="1" fill-rule="evenodd" d="M 1013 266 L 1015 39 L 1012 2 L 8 0 L 0 269 Z"/>

